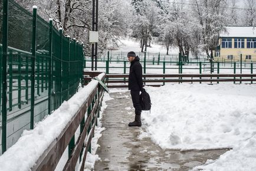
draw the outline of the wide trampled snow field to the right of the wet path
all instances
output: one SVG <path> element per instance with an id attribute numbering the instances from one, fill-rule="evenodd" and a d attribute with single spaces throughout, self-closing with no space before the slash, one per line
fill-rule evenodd
<path id="1" fill-rule="evenodd" d="M 149 136 L 162 149 L 232 148 L 193 170 L 254 170 L 255 88 L 232 83 L 146 87 L 153 106 L 142 113 L 146 133 L 139 138 Z"/>

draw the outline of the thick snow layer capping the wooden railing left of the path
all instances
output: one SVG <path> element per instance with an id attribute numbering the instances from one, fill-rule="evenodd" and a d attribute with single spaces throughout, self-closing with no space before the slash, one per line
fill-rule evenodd
<path id="1" fill-rule="evenodd" d="M 103 75 L 98 77 L 101 79 Z M 0 170 L 29 170 L 34 166 L 97 85 L 98 81 L 91 81 L 45 120 L 36 124 L 34 130 L 24 130 L 18 142 L 0 156 Z"/>

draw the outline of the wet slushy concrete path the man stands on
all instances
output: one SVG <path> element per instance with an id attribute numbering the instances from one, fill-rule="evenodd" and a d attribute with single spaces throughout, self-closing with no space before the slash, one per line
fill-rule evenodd
<path id="1" fill-rule="evenodd" d="M 101 122 L 106 130 L 99 139 L 95 170 L 189 170 L 203 165 L 207 159 L 217 159 L 227 150 L 162 150 L 150 138 L 138 138 L 145 126 L 128 127 L 134 120 L 130 92 L 110 93 Z M 130 107 L 130 110 L 125 108 Z M 143 122 L 142 122 L 143 124 Z"/>

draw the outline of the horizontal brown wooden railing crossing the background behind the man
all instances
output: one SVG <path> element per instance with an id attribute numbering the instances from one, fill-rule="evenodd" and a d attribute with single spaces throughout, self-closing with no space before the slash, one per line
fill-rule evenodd
<path id="1" fill-rule="evenodd" d="M 108 87 L 128 87 L 128 77 L 129 74 L 107 74 Z M 255 81 L 256 74 L 143 74 L 143 84 L 156 87 L 165 85 L 165 83 L 244 82 L 252 84 Z"/>

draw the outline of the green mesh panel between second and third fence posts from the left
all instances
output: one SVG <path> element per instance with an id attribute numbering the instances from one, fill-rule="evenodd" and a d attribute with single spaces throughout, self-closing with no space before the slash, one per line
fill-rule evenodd
<path id="1" fill-rule="evenodd" d="M 34 121 L 42 120 L 48 114 L 48 66 L 50 66 L 50 26 L 37 16 L 35 57 L 35 110 Z"/>

